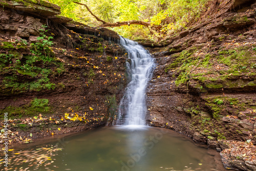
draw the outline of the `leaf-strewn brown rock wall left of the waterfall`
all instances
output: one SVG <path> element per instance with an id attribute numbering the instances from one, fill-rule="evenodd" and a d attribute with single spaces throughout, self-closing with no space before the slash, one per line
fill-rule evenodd
<path id="1" fill-rule="evenodd" d="M 0 1 L 0 143 L 5 113 L 10 142 L 103 126 L 126 84 L 117 33 L 38 3 Z"/>

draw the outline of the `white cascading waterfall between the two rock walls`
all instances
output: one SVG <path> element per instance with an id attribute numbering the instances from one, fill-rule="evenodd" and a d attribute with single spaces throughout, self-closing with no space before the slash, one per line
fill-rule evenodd
<path id="1" fill-rule="evenodd" d="M 128 52 L 126 72 L 130 82 L 120 102 L 117 124 L 145 125 L 145 91 L 153 75 L 155 60 L 137 42 L 120 37 L 120 44 Z"/>

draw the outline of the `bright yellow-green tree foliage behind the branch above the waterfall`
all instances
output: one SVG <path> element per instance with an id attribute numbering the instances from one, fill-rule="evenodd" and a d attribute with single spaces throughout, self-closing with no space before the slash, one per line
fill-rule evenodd
<path id="1" fill-rule="evenodd" d="M 196 22 L 210 0 L 49 0 L 61 15 L 131 38 L 157 40 Z"/>

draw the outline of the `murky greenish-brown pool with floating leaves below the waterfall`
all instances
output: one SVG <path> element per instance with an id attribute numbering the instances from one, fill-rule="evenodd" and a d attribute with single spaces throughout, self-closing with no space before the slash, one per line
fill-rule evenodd
<path id="1" fill-rule="evenodd" d="M 217 152 L 147 126 L 104 127 L 9 155 L 9 170 L 226 170 Z"/>

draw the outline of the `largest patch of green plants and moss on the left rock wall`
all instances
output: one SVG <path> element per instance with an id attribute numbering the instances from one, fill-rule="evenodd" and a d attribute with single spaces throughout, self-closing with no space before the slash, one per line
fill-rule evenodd
<path id="1" fill-rule="evenodd" d="M 28 45 L 28 42 L 23 39 L 7 44 L 14 46 L 15 49 L 9 50 L 6 54 L 0 54 L 0 71 L 2 74 L 6 74 L 2 88 L 11 93 L 55 89 L 55 84 L 50 82 L 49 76 L 55 73 L 60 75 L 65 72 L 65 68 L 60 60 L 55 59 L 51 48 L 53 42 L 50 40 L 53 37 L 46 36 L 48 31 L 45 30 L 46 28 L 47 26 L 42 26 L 40 36 L 37 38 L 38 42 L 35 44 Z M 26 49 L 32 55 L 20 55 L 19 48 Z M 56 72 L 47 69 L 49 65 L 57 66 Z M 41 66 L 43 67 L 41 68 Z M 20 77 L 22 75 L 26 80 Z M 28 76 L 34 78 L 33 81 L 28 79 Z"/>

